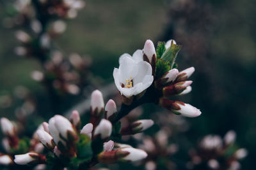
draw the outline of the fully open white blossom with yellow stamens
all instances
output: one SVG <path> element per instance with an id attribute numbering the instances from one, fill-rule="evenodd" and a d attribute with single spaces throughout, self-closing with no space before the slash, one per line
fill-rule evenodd
<path id="1" fill-rule="evenodd" d="M 134 54 L 125 53 L 119 59 L 119 67 L 113 71 L 115 85 L 125 97 L 136 96 L 143 90 L 150 87 L 154 77 L 152 67 L 148 62 L 143 61 L 141 50 Z"/>

